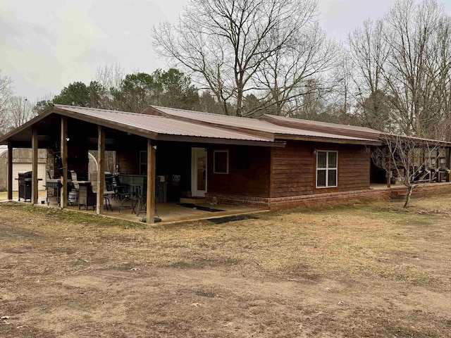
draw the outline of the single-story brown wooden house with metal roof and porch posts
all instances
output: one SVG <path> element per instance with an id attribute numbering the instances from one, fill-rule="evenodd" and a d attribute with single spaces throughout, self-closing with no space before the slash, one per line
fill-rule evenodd
<path id="1" fill-rule="evenodd" d="M 159 106 L 138 114 L 54 105 L 1 137 L 0 144 L 10 150 L 32 148 L 34 173 L 37 149 L 49 149 L 54 178 L 61 176 L 63 183 L 70 170 L 87 176 L 88 151 L 97 150 L 98 213 L 104 203 L 99 197 L 104 191 L 104 152 L 116 151 L 118 173 L 150 182 L 147 215 L 154 215 L 156 177 L 167 183 L 165 201 L 205 197 L 271 209 L 295 206 L 321 194 L 339 199 L 367 192 L 369 149 L 381 146 L 380 137 L 381 132 L 366 127 L 273 115 L 237 118 Z M 448 168 L 449 163 L 448 150 Z M 11 165 L 8 173 L 11 199 Z M 33 179 L 33 187 L 37 180 Z M 33 189 L 36 203 L 37 188 Z M 67 196 L 63 184 L 61 207 Z"/>

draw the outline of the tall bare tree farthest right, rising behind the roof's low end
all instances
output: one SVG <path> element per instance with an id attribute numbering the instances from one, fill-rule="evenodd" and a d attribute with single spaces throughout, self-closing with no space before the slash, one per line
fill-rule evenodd
<path id="1" fill-rule="evenodd" d="M 385 21 L 390 54 L 383 73 L 393 108 L 404 134 L 430 137 L 450 91 L 440 80 L 450 76 L 450 18 L 435 0 L 402 0 Z"/>

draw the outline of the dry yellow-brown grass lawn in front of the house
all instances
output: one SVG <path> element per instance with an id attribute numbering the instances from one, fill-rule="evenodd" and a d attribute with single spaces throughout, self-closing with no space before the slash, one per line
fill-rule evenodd
<path id="1" fill-rule="evenodd" d="M 140 225 L 0 204 L 0 337 L 451 337 L 451 196 Z"/>

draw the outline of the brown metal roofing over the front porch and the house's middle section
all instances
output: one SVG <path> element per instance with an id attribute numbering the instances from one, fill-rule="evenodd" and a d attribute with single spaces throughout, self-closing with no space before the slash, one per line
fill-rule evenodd
<path id="1" fill-rule="evenodd" d="M 32 126 L 49 125 L 54 114 L 88 123 L 130 132 L 141 137 L 161 141 L 254 144 L 283 146 L 288 139 L 345 144 L 377 144 L 378 140 L 354 137 L 323 130 L 307 130 L 277 125 L 266 120 L 238 118 L 227 115 L 186 111 L 183 109 L 151 106 L 143 113 L 128 113 L 99 108 L 54 105 L 49 110 L 0 138 L 0 144 L 8 140 L 20 142 L 30 139 Z M 51 116 L 50 116 L 51 115 Z M 54 123 L 55 121 L 53 121 Z"/>

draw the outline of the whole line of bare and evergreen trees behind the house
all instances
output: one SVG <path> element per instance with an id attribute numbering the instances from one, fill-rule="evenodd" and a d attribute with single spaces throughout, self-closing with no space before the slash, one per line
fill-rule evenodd
<path id="1" fill-rule="evenodd" d="M 451 19 L 438 1 L 399 0 L 344 43 L 326 35 L 317 14 L 315 0 L 191 0 L 178 23 L 152 29 L 156 53 L 172 68 L 125 75 L 106 65 L 89 84 L 73 82 L 34 106 L 11 99 L 0 77 L 2 130 L 49 104 L 137 113 L 152 104 L 447 138 Z M 11 114 L 20 118 L 5 125 Z"/>

